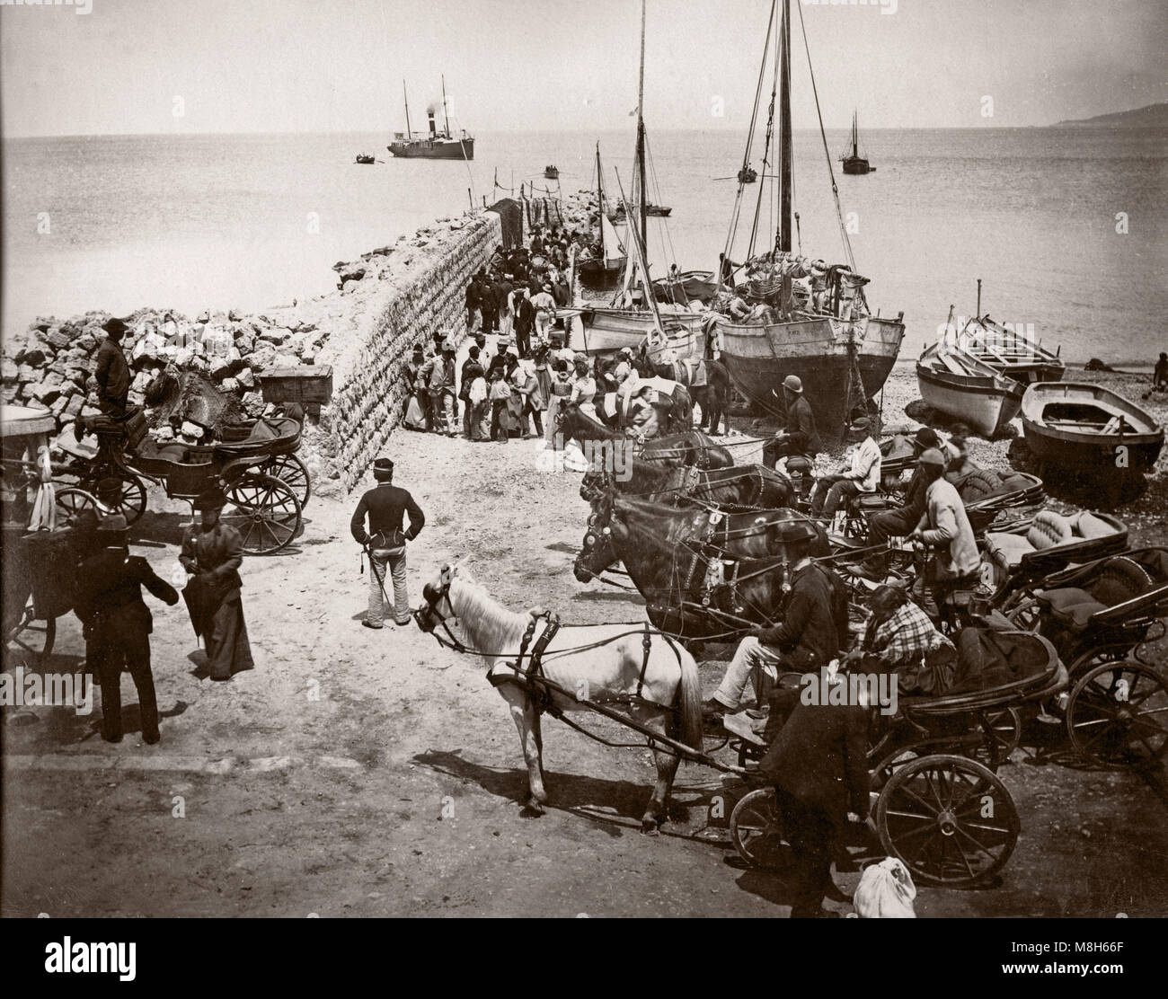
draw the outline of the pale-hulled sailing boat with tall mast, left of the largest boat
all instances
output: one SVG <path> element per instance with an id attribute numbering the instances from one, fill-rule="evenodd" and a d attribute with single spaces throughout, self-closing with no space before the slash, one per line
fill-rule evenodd
<path id="1" fill-rule="evenodd" d="M 705 337 L 702 332 L 705 317 L 690 312 L 684 306 L 661 305 L 658 307 L 652 294 L 648 276 L 648 204 L 646 201 L 647 173 L 645 168 L 645 0 L 641 0 L 641 69 L 637 100 L 637 164 L 633 172 L 632 203 L 625 208 L 628 218 L 626 242 L 638 244 L 639 252 L 630 254 L 625 261 L 625 275 L 620 291 L 609 306 L 588 305 L 580 313 L 583 342 L 572 348 L 589 354 L 607 353 L 620 347 L 639 349 L 648 344 L 651 333 L 668 337 L 676 358 L 702 356 Z M 620 178 L 617 178 L 618 182 Z M 602 218 L 605 213 L 600 213 Z M 603 224 L 603 223 L 602 223 Z M 639 231 L 638 231 L 639 229 Z"/>

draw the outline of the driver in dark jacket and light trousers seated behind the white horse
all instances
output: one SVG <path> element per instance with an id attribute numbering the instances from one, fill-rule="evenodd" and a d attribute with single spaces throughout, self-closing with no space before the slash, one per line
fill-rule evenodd
<path id="1" fill-rule="evenodd" d="M 783 623 L 752 629 L 738 643 L 722 684 L 702 705 L 707 723 L 721 724 L 726 712 L 739 709 L 757 671 L 774 677 L 780 672 L 808 673 L 840 654 L 848 634 L 848 595 L 834 571 L 812 560 L 809 546 L 809 540 L 787 542 L 794 568 Z"/>

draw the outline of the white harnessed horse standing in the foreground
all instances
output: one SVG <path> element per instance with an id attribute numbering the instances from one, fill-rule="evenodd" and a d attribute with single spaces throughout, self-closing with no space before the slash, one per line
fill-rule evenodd
<path id="1" fill-rule="evenodd" d="M 529 653 L 545 622 L 540 608 L 515 613 L 500 606 L 466 569 L 445 566 L 439 577 L 425 587 L 426 605 L 419 609 L 418 625 L 432 632 L 439 624 L 457 618 L 463 627 L 467 652 L 480 654 L 494 675 L 514 675 L 505 664 L 519 655 L 524 633 L 535 626 L 522 668 L 530 665 Z M 598 703 L 620 705 L 628 717 L 693 749 L 702 748 L 701 680 L 694 657 L 674 640 L 639 625 L 602 624 L 562 627 L 542 654 L 541 673 L 576 696 Z M 527 762 L 529 797 L 527 807 L 543 814 L 548 792 L 543 786 L 543 740 L 540 715 L 543 706 L 517 684 L 499 685 L 499 693 L 510 707 Z M 627 699 L 639 693 L 633 705 Z M 536 687 L 538 695 L 538 687 Z M 586 712 L 569 698 L 551 693 L 552 703 L 564 712 Z M 677 772 L 679 757 L 654 748 L 658 779 L 653 797 L 641 818 L 641 832 L 656 834 L 666 818 L 669 790 Z"/>

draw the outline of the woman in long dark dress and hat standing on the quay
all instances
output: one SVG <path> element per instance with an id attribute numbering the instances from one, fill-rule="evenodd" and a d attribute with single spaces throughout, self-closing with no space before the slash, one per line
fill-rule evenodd
<path id="1" fill-rule="evenodd" d="M 179 562 L 189 574 L 182 597 L 195 634 L 203 639 L 213 680 L 230 680 L 232 674 L 256 665 L 243 619 L 243 539 L 238 530 L 220 521 L 225 505 L 227 497 L 218 487 L 195 500 L 199 523 L 186 529 L 179 553 Z"/>

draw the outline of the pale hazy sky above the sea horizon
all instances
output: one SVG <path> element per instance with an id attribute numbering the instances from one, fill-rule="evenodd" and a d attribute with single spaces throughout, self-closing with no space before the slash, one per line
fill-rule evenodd
<path id="1" fill-rule="evenodd" d="M 471 132 L 623 129 L 637 104 L 638 0 L 29 2 L 0 0 L 6 137 L 399 131 L 403 78 L 417 129 L 442 72 Z M 795 127 L 815 124 L 800 11 L 828 127 L 853 107 L 864 129 L 1009 127 L 1168 99 L 1166 0 L 792 0 Z M 646 120 L 748 124 L 769 12 L 648 0 Z"/>

